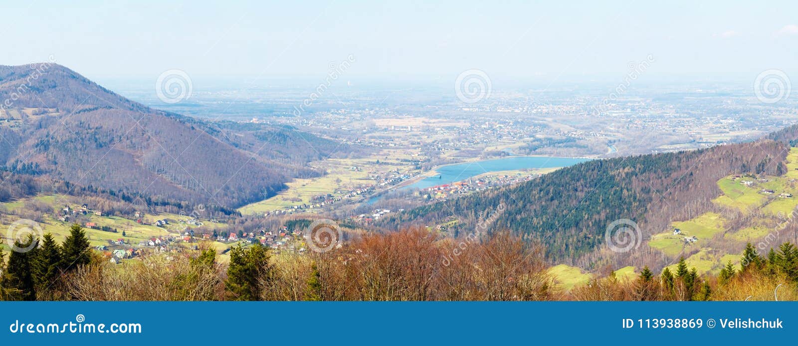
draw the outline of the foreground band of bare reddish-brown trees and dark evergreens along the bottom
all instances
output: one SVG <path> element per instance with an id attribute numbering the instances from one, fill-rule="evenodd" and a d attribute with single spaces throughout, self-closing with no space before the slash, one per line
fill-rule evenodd
<path id="1" fill-rule="evenodd" d="M 607 272 L 565 290 L 544 249 L 511 233 L 455 241 L 425 229 L 369 233 L 329 253 L 235 246 L 152 253 L 123 264 L 93 254 L 79 226 L 57 245 L 52 236 L 18 241 L 2 271 L 4 300 L 780 300 L 798 299 L 798 250 L 784 243 L 766 255 L 748 245 L 736 267 L 699 275 L 684 258 L 657 275 Z M 30 268 L 30 270 L 28 269 Z"/>

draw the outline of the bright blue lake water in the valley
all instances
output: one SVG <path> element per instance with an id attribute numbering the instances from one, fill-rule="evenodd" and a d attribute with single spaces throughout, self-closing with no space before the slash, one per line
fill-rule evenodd
<path id="1" fill-rule="evenodd" d="M 425 177 L 401 189 L 426 189 L 435 185 L 451 184 L 455 181 L 464 181 L 480 174 L 513 169 L 541 169 L 552 167 L 567 167 L 579 162 L 590 161 L 588 158 L 578 157 L 531 157 L 513 156 L 493 160 L 474 161 L 454 165 L 440 166 L 433 177 Z"/>

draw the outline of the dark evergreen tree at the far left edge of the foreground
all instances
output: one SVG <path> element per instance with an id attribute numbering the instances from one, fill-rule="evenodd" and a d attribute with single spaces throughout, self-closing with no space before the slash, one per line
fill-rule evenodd
<path id="1" fill-rule="evenodd" d="M 33 236 L 29 236 L 24 242 L 14 241 L 15 248 L 29 250 L 12 251 L 8 257 L 6 271 L 3 272 L 2 283 L 0 283 L 7 300 L 36 300 L 34 276 L 30 271 L 30 264 L 37 256 L 35 241 Z"/>

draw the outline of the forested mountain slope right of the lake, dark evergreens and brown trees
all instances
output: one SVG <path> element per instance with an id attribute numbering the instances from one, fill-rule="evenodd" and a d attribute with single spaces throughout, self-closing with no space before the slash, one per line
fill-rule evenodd
<path id="1" fill-rule="evenodd" d="M 508 229 L 543 244 L 547 256 L 556 263 L 583 268 L 602 264 L 612 264 L 614 268 L 635 264 L 662 268 L 678 256 L 696 253 L 699 247 L 682 246 L 682 237 L 672 237 L 673 246 L 660 246 L 650 242 L 652 237 L 672 232 L 674 222 L 704 216 L 721 219 L 727 225 L 718 227 L 722 232 L 717 237 L 709 232 L 713 229 L 701 229 L 706 230 L 706 235 L 701 234 L 699 245 L 726 246 L 733 248 L 729 253 L 739 253 L 736 249 L 745 245 L 745 238 L 732 244 L 725 233 L 745 229 L 754 221 L 759 223 L 757 227 L 775 227 L 776 215 L 762 213 L 758 208 L 783 202 L 777 201 L 779 192 L 796 189 L 796 179 L 789 179 L 785 165 L 796 137 L 798 126 L 792 126 L 748 143 L 587 161 L 512 187 L 397 213 L 382 221 L 382 226 L 401 229 L 412 225 L 452 225 L 451 221 L 456 220 L 448 230 L 452 237 Z M 745 205 L 746 208 L 737 208 L 739 205 L 725 199 L 719 201 L 729 192 L 721 189 L 726 185 L 723 181 L 736 179 L 729 177 L 733 174 L 747 174 L 746 179 L 755 184 L 745 190 L 735 187 L 733 193 L 760 198 L 759 189 L 773 184 L 776 194 L 761 195 L 757 210 L 753 211 Z M 757 188 L 758 185 L 764 187 Z M 638 235 L 632 236 L 636 239 L 628 252 L 608 249 L 607 229 L 618 220 L 634 222 L 640 229 Z M 755 239 L 750 237 L 749 241 Z"/>

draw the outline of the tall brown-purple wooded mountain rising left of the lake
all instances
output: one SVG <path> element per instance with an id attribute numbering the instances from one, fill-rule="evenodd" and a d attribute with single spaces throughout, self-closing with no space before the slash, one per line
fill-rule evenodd
<path id="1" fill-rule="evenodd" d="M 273 196 L 293 177 L 318 176 L 307 162 L 350 150 L 286 126 L 152 109 L 56 64 L 0 66 L 0 100 L 2 170 L 57 181 L 67 187 L 61 193 L 234 208 Z"/>

